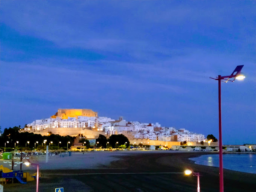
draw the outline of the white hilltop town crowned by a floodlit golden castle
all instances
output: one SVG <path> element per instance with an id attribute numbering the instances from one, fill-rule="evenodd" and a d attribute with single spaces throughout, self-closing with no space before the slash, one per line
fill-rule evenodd
<path id="1" fill-rule="evenodd" d="M 128 139 L 148 139 L 172 142 L 201 142 L 203 134 L 192 133 L 186 129 L 163 127 L 159 123 L 141 123 L 118 120 L 109 117 L 99 117 L 91 109 L 58 109 L 50 118 L 35 120 L 27 124 L 20 132 L 28 131 L 41 135 L 49 133 L 61 136 L 77 136 L 83 134 L 87 138 L 98 138 L 99 134 L 106 137 L 113 134 L 123 134 Z"/>

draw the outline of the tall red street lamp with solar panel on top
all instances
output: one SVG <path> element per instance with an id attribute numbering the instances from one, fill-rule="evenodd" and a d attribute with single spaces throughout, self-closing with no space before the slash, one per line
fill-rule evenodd
<path id="1" fill-rule="evenodd" d="M 235 79 L 242 80 L 245 78 L 244 75 L 241 74 L 241 70 L 244 66 L 236 66 L 236 69 L 233 71 L 233 73 L 229 76 L 221 76 L 218 75 L 218 78 L 211 78 L 218 80 L 218 87 L 219 87 L 219 191 L 224 192 L 224 183 L 223 183 L 223 156 L 222 156 L 222 127 L 221 127 L 221 81 L 222 82 L 228 82 L 232 81 L 234 82 Z M 233 80 L 229 80 L 230 78 L 233 78 Z M 225 81 L 223 81 L 225 80 Z"/>

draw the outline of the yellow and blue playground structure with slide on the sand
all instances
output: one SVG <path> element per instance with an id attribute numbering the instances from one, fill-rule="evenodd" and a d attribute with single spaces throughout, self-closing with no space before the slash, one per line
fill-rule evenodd
<path id="1" fill-rule="evenodd" d="M 4 167 L 3 165 L 0 165 L 0 183 L 2 181 L 2 184 L 5 182 L 7 183 L 8 180 L 11 180 L 12 183 L 14 183 L 14 179 L 17 179 L 20 183 L 26 184 L 27 181 L 34 181 L 36 178 L 36 173 L 33 175 L 30 175 L 28 172 L 23 171 L 14 171 L 11 169 L 8 169 Z M 39 176 L 40 178 L 40 176 Z M 24 181 L 26 180 L 26 181 Z"/>

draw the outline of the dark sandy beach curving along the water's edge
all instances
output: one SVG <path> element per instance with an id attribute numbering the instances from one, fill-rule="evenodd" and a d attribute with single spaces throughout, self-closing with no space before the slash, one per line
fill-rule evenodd
<path id="1" fill-rule="evenodd" d="M 196 192 L 197 178 L 181 174 L 186 168 L 192 168 L 195 172 L 200 172 L 201 192 L 217 192 L 219 169 L 196 165 L 189 160 L 203 154 L 207 153 L 94 151 L 56 160 L 50 159 L 49 169 L 43 164 L 43 160 L 38 159 L 38 162 L 42 161 L 39 191 L 52 192 L 56 187 L 64 187 L 66 192 Z M 255 181 L 256 174 L 224 170 L 225 192 L 253 192 L 256 189 Z M 35 187 L 35 181 L 28 184 L 6 184 L 4 192 L 34 192 Z"/>

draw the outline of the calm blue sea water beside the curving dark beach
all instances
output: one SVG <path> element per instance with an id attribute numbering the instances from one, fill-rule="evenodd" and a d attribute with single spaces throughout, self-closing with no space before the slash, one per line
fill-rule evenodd
<path id="1" fill-rule="evenodd" d="M 190 158 L 196 164 L 219 167 L 219 154 Z M 256 174 L 256 154 L 223 154 L 223 168 Z"/>

